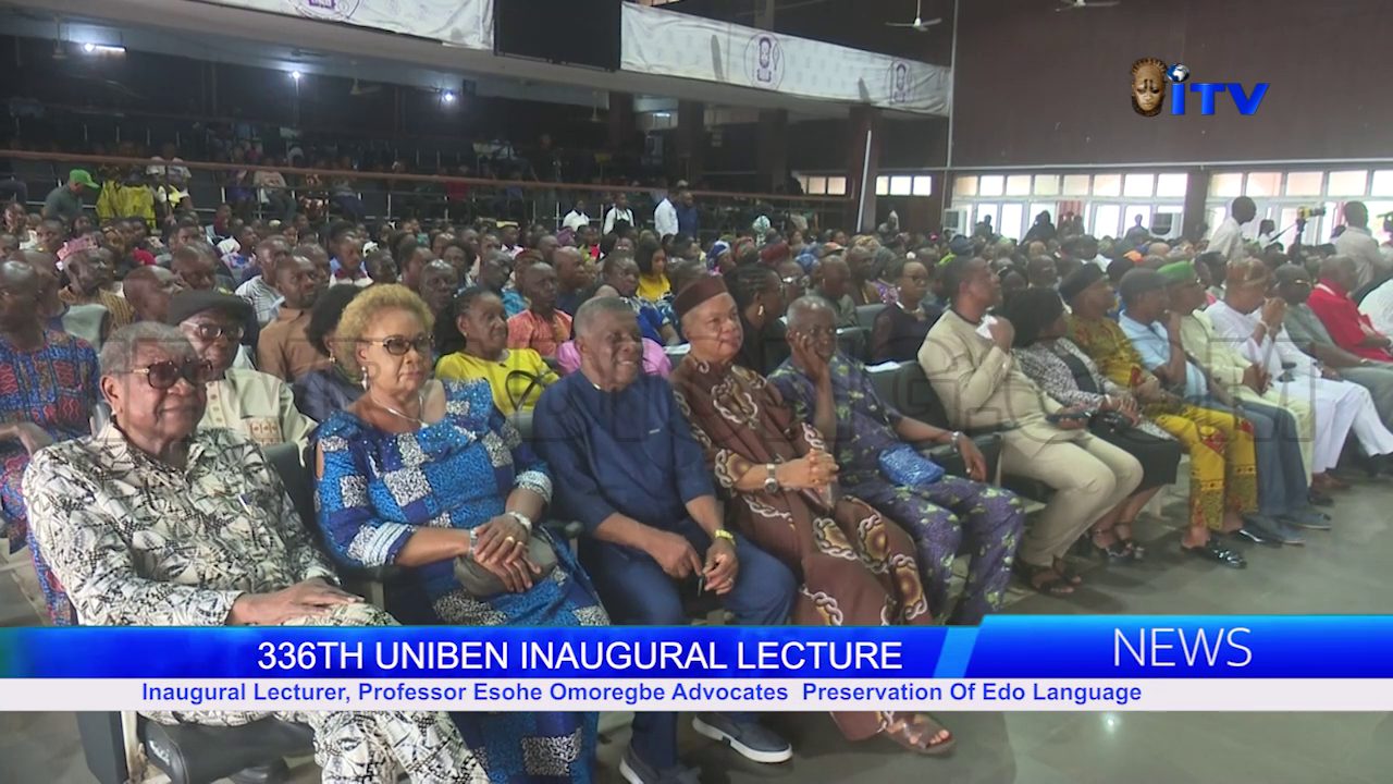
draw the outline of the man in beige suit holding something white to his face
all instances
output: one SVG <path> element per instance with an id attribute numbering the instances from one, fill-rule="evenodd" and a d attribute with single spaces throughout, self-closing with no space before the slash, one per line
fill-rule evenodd
<path id="1" fill-rule="evenodd" d="M 1106 529 L 1109 518 L 1121 515 L 1141 484 L 1141 463 L 1089 435 L 1078 407 L 1061 406 L 1015 367 L 1015 329 L 986 312 L 1002 297 L 986 261 L 958 257 L 939 276 L 953 307 L 919 347 L 919 365 L 953 427 L 1000 431 L 1002 470 L 1055 488 L 1018 559 L 1036 590 L 1070 593 L 1080 580 L 1064 565 L 1064 552 L 1089 526 Z"/>

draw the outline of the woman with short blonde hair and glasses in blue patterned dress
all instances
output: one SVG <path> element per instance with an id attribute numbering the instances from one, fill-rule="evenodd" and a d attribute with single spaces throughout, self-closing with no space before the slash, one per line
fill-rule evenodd
<path id="1" fill-rule="evenodd" d="M 334 558 L 403 566 L 407 576 L 387 586 L 386 610 L 404 624 L 606 624 L 570 548 L 532 529 L 552 480 L 493 406 L 489 385 L 429 381 L 430 311 L 421 297 L 405 286 L 372 286 L 344 311 L 337 338 L 365 392 L 316 435 L 319 527 Z M 556 555 L 549 573 L 534 561 L 532 537 Z M 500 593 L 475 596 L 481 589 L 464 586 L 461 569 L 479 568 Z M 528 781 L 539 771 L 592 777 L 593 713 L 454 718 L 493 781 Z"/>

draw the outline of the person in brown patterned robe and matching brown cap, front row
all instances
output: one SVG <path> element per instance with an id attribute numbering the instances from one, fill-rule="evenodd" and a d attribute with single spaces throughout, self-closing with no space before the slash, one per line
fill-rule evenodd
<path id="1" fill-rule="evenodd" d="M 674 304 L 691 340 L 691 354 L 671 377 L 677 406 L 731 498 L 733 527 L 801 579 L 794 622 L 932 624 L 910 536 L 864 501 L 840 495 L 837 463 L 818 431 L 765 377 L 734 364 L 744 335 L 724 280 L 690 283 Z M 921 753 L 942 753 L 954 742 L 924 714 L 833 717 L 854 741 L 885 732 Z"/>

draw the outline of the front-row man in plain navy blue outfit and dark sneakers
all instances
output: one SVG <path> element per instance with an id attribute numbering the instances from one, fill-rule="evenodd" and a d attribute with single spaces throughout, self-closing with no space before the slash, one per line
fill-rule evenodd
<path id="1" fill-rule="evenodd" d="M 722 597 L 738 624 L 788 618 L 794 579 L 777 559 L 723 527 L 710 472 L 673 389 L 639 372 L 641 335 L 617 297 L 575 314 L 581 371 L 542 393 L 536 448 L 556 476 L 557 506 L 585 526 L 581 562 L 616 624 L 685 622 L 677 582 Z M 698 732 L 755 762 L 793 756 L 751 716 L 701 714 Z M 628 781 L 677 781 L 677 716 L 639 713 L 621 771 Z M 662 778 L 662 776 L 673 776 Z"/>

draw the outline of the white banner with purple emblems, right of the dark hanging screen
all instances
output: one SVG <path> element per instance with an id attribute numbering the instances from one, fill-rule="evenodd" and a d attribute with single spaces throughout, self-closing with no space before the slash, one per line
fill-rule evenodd
<path id="1" fill-rule="evenodd" d="M 942 66 L 834 43 L 624 4 L 620 67 L 947 116 L 950 74 Z"/>

